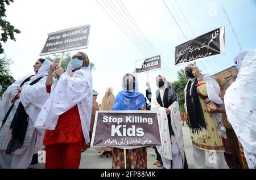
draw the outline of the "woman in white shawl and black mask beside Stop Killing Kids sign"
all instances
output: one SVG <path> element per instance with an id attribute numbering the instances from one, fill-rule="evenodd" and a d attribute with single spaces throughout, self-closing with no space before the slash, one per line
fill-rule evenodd
<path id="1" fill-rule="evenodd" d="M 156 78 L 159 89 L 152 96 L 151 110 L 158 113 L 158 123 L 162 136 L 162 144 L 157 146 L 162 157 L 164 168 L 187 168 L 185 160 L 183 134 L 177 96 L 164 76 Z"/>

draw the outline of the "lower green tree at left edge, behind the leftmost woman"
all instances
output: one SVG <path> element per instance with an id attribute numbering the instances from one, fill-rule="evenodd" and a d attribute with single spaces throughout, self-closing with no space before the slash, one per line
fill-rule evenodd
<path id="1" fill-rule="evenodd" d="M 0 92 L 0 97 L 2 97 L 3 92 L 11 85 L 15 80 L 11 76 L 10 65 L 13 63 L 11 59 L 6 58 L 6 55 L 0 58 L 0 84 L 3 89 Z"/>

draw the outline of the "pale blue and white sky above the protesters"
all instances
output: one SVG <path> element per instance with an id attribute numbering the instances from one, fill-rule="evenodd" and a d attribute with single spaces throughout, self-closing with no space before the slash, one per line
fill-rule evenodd
<path id="1" fill-rule="evenodd" d="M 98 0 L 98 2 L 104 6 L 104 2 L 107 1 Z M 117 5 L 117 1 L 112 2 Z M 173 81 L 176 79 L 176 72 L 183 68 L 183 66 L 174 66 L 174 48 L 187 40 L 162 0 L 122 0 L 122 2 L 167 66 L 162 71 L 149 73 L 149 81 L 155 91 L 156 75 L 164 74 L 168 80 Z M 256 0 L 176 0 L 176 2 L 171 0 L 174 6 L 168 0 L 165 2 L 189 40 L 193 35 L 189 33 L 188 26 L 186 25 L 189 32 L 182 24 L 185 20 L 176 2 L 195 36 L 225 25 L 226 54 L 197 62 L 204 73 L 215 74 L 233 66 L 233 58 L 240 51 L 222 11 L 222 5 L 229 15 L 242 48 L 256 48 Z M 7 57 L 14 61 L 11 71 L 15 79 L 33 73 L 32 65 L 39 58 L 47 33 L 83 24 L 91 24 L 89 47 L 84 52 L 96 65 L 96 71 L 93 71 L 93 88 L 100 93 L 99 102 L 108 86 L 113 87 L 116 95 L 121 90 L 122 76 L 126 72 L 134 71 L 136 60 L 146 58 L 94 0 L 14 1 L 7 6 L 6 14 L 7 19 L 22 31 L 22 34 L 16 35 L 16 42 L 9 40 L 3 44 Z M 146 74 L 139 74 L 138 82 L 139 91 L 144 93 Z"/>

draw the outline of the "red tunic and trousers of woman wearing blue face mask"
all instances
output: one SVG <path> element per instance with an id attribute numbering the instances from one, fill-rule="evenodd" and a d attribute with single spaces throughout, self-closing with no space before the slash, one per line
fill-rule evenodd
<path id="1" fill-rule="evenodd" d="M 51 92 L 51 85 L 46 85 Z M 84 143 L 77 105 L 59 116 L 55 130 L 46 130 L 46 169 L 79 168 L 81 147 Z"/>

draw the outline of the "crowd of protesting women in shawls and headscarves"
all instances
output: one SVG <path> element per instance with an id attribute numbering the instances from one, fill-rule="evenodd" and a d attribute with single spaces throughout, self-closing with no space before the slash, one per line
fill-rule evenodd
<path id="1" fill-rule="evenodd" d="M 73 55 L 67 71 L 38 59 L 35 75 L 16 80 L 0 100 L 0 168 L 28 168 L 42 145 L 46 168 L 79 168 L 81 152 L 90 146 L 96 110 L 152 110 L 159 114 L 162 145 L 154 147 L 155 164 L 166 169 L 188 168 L 179 100 L 163 75 L 150 84 L 146 98 L 138 92 L 133 74 L 122 78 L 117 96 L 107 88 L 100 108 L 92 93 L 90 61 L 83 52 Z M 205 152 L 214 168 L 256 168 L 256 49 L 242 50 L 234 58 L 238 75 L 228 89 L 220 79 L 201 74 L 197 66 L 185 66 L 187 85 L 184 108 L 193 144 L 195 168 L 205 168 Z M 147 168 L 147 147 L 97 149 L 113 156 L 112 168 Z"/>

